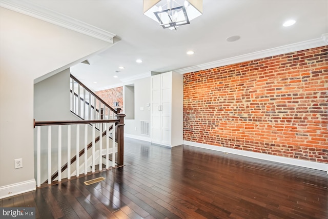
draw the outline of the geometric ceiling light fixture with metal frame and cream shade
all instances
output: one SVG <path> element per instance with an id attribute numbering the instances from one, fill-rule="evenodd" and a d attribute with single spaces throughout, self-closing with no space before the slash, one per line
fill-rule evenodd
<path id="1" fill-rule="evenodd" d="M 162 28 L 176 30 L 202 13 L 202 0 L 144 0 L 144 14 Z"/>

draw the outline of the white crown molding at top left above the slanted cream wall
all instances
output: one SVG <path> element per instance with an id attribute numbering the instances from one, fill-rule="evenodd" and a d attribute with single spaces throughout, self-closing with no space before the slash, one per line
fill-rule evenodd
<path id="1" fill-rule="evenodd" d="M 113 44 L 113 38 L 116 36 L 115 34 L 106 30 L 78 21 L 72 17 L 57 13 L 45 7 L 35 5 L 29 1 L 1 0 L 0 7 L 7 8 L 9 10 L 16 11 L 18 13 L 22 13 L 79 33 L 83 33 L 85 35 L 101 39 L 102 41 L 111 44 Z"/>

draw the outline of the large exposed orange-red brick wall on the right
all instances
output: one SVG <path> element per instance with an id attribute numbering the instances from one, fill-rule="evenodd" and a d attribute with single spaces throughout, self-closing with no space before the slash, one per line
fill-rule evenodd
<path id="1" fill-rule="evenodd" d="M 328 163 L 328 46 L 184 74 L 186 141 Z"/>

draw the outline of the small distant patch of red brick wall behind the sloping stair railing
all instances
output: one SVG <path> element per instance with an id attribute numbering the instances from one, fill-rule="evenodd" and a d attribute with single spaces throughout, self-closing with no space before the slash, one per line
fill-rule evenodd
<path id="1" fill-rule="evenodd" d="M 103 101 L 105 101 L 109 106 L 116 109 L 117 107 L 113 106 L 114 102 L 118 102 L 119 108 L 121 108 L 121 113 L 124 112 L 123 106 L 123 87 L 117 87 L 107 90 L 96 91 L 95 94 L 99 96 Z"/>

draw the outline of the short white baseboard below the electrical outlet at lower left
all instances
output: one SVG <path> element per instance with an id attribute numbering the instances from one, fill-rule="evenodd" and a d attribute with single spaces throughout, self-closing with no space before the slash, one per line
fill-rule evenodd
<path id="1" fill-rule="evenodd" d="M 25 182 L 15 183 L 8 186 L 0 187 L 0 199 L 10 197 L 25 192 L 30 192 L 36 189 L 35 180 L 29 180 Z"/>

